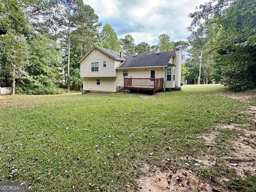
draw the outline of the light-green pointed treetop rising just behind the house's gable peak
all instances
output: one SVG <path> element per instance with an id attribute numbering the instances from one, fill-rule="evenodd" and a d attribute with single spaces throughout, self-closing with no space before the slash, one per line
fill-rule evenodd
<path id="1" fill-rule="evenodd" d="M 108 23 L 103 26 L 102 31 L 100 32 L 100 42 L 106 49 L 117 52 L 121 51 L 120 41 L 118 40 L 117 34 Z"/>

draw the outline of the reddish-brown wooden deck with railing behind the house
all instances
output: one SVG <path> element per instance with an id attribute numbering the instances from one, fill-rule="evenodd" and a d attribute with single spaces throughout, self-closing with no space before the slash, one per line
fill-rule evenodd
<path id="1" fill-rule="evenodd" d="M 145 90 L 153 91 L 164 88 L 164 78 L 126 78 L 124 77 L 124 93 L 125 90 Z"/>

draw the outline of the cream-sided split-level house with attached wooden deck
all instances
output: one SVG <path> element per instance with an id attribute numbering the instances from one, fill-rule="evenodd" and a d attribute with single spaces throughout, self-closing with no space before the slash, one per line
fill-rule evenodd
<path id="1" fill-rule="evenodd" d="M 78 63 L 83 90 L 180 90 L 180 50 L 126 56 L 93 46 Z"/>

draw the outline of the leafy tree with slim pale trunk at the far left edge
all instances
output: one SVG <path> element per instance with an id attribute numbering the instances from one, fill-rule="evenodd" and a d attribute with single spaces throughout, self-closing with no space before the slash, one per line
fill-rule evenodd
<path id="1" fill-rule="evenodd" d="M 1 1 L 0 15 L 0 28 L 8 31 L 0 37 L 1 75 L 8 78 L 8 74 L 12 74 L 12 94 L 15 94 L 16 80 L 26 75 L 28 47 L 25 36 L 29 36 L 30 28 L 16 0 Z"/>

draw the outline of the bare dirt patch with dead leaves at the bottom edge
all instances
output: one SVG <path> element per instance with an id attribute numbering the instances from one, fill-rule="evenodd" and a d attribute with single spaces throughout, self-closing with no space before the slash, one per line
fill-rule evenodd
<path id="1" fill-rule="evenodd" d="M 143 171 L 143 176 L 138 179 L 138 187 L 128 189 L 130 192 L 212 192 L 214 189 L 223 192 L 220 187 L 200 179 L 191 170 L 173 168 L 162 172 L 159 168 L 146 165 Z"/>

